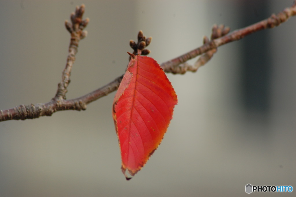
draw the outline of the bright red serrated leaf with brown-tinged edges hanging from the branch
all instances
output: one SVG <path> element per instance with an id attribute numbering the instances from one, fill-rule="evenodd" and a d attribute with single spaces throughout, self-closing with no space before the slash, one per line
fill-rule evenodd
<path id="1" fill-rule="evenodd" d="M 151 57 L 132 56 L 112 110 L 127 180 L 126 169 L 134 176 L 160 144 L 177 104 L 160 65 Z"/>

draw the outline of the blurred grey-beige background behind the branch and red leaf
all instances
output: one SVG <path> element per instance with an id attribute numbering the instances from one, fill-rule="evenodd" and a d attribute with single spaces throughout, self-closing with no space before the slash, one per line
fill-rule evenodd
<path id="1" fill-rule="evenodd" d="M 54 97 L 70 41 L 64 20 L 82 3 L 89 34 L 69 99 L 123 74 L 139 30 L 153 37 L 149 56 L 163 63 L 199 47 L 215 23 L 235 30 L 293 1 L 0 1 L 0 109 Z M 292 18 L 220 47 L 197 73 L 168 74 L 178 95 L 173 120 L 130 181 L 120 170 L 114 92 L 86 111 L 1 122 L 0 196 L 230 197 L 247 196 L 248 183 L 296 190 L 295 31 Z"/>

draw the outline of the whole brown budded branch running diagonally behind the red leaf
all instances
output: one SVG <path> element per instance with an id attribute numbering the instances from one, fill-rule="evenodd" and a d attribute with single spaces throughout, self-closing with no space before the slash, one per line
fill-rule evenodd
<path id="1" fill-rule="evenodd" d="M 84 13 L 84 5 L 81 7 L 76 7 L 75 13 L 71 14 L 71 22 L 65 22 L 65 26 L 67 30 L 71 33 L 71 41 L 69 46 L 69 55 L 67 57 L 67 64 L 62 74 L 62 81 L 58 85 L 57 94 L 55 97 L 47 103 L 44 104 L 36 104 L 36 105 L 19 105 L 15 108 L 0 110 L 0 121 L 6 120 L 25 120 L 38 118 L 40 116 L 51 116 L 52 113 L 61 110 L 85 110 L 86 105 L 90 102 L 93 102 L 103 96 L 108 95 L 109 93 L 118 89 L 120 81 L 123 76 L 120 76 L 109 84 L 90 92 L 82 97 L 66 100 L 66 92 L 67 86 L 70 83 L 70 73 L 75 61 L 75 55 L 77 53 L 78 42 L 86 36 L 86 31 L 82 31 L 83 28 L 89 22 L 89 19 L 82 20 L 82 15 Z M 284 9 L 277 15 L 271 15 L 266 20 L 262 20 L 258 23 L 250 25 L 246 28 L 239 29 L 237 31 L 233 31 L 228 35 L 229 30 L 224 28 L 223 26 L 214 29 L 212 32 L 211 41 L 207 38 L 204 39 L 204 45 L 194 49 L 184 55 L 176 57 L 172 60 L 169 60 L 165 63 L 161 64 L 161 67 L 165 72 L 170 73 L 179 73 L 184 74 L 186 71 L 195 72 L 201 65 L 205 64 L 215 53 L 216 49 L 219 46 L 227 44 L 232 41 L 236 41 L 242 39 L 244 36 L 250 35 L 251 33 L 255 33 L 257 31 L 273 28 L 275 26 L 280 25 L 287 21 L 290 17 L 296 15 L 296 0 L 291 7 Z M 222 28 L 223 27 L 223 28 Z M 215 32 L 217 31 L 217 32 Z M 219 33 L 219 31 L 222 31 Z M 227 31 L 227 32 L 226 32 Z M 215 34 L 216 33 L 216 34 Z M 222 37 L 220 37 L 222 36 Z M 217 37 L 217 38 L 216 38 Z M 142 55 L 147 55 L 149 50 L 144 49 L 151 42 L 151 37 L 147 38 L 143 36 L 143 33 L 140 31 L 138 35 L 138 43 L 136 44 L 134 41 L 130 41 L 130 46 L 134 49 L 134 54 L 141 52 Z M 205 55 L 202 55 L 205 54 Z M 202 55 L 197 63 L 194 66 L 190 66 L 188 64 L 183 64 L 187 60 L 197 57 L 198 55 Z"/>

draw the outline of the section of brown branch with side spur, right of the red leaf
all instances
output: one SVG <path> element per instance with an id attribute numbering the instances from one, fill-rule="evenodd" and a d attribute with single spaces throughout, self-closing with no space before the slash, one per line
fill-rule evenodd
<path id="1" fill-rule="evenodd" d="M 164 69 L 165 72 L 170 72 L 174 74 L 177 74 L 177 73 L 184 74 L 184 72 L 186 71 L 195 72 L 196 69 L 198 69 L 201 65 L 204 65 L 208 60 L 210 60 L 210 58 L 213 56 L 213 54 L 210 54 L 210 53 L 216 52 L 218 47 L 224 44 L 227 44 L 229 42 L 242 39 L 243 37 L 248 36 L 257 31 L 279 26 L 281 23 L 284 23 L 290 17 L 295 15 L 296 15 L 296 1 L 294 1 L 294 4 L 292 7 L 288 7 L 284 9 L 282 12 L 279 12 L 279 14 L 277 15 L 272 14 L 266 20 L 262 20 L 258 23 L 233 31 L 231 33 L 229 33 L 230 31 L 229 27 L 224 27 L 224 25 L 218 26 L 215 24 L 213 25 L 213 28 L 212 28 L 211 41 L 205 43 L 201 47 L 198 47 L 192 51 L 185 53 L 184 55 L 181 55 L 177 58 L 174 58 L 173 60 L 170 60 L 161 64 L 161 67 Z M 204 39 L 204 41 L 206 40 Z M 210 52 L 211 50 L 212 52 Z M 204 55 L 197 60 L 194 66 L 189 66 L 188 64 L 184 64 L 186 61 L 202 54 Z"/>

